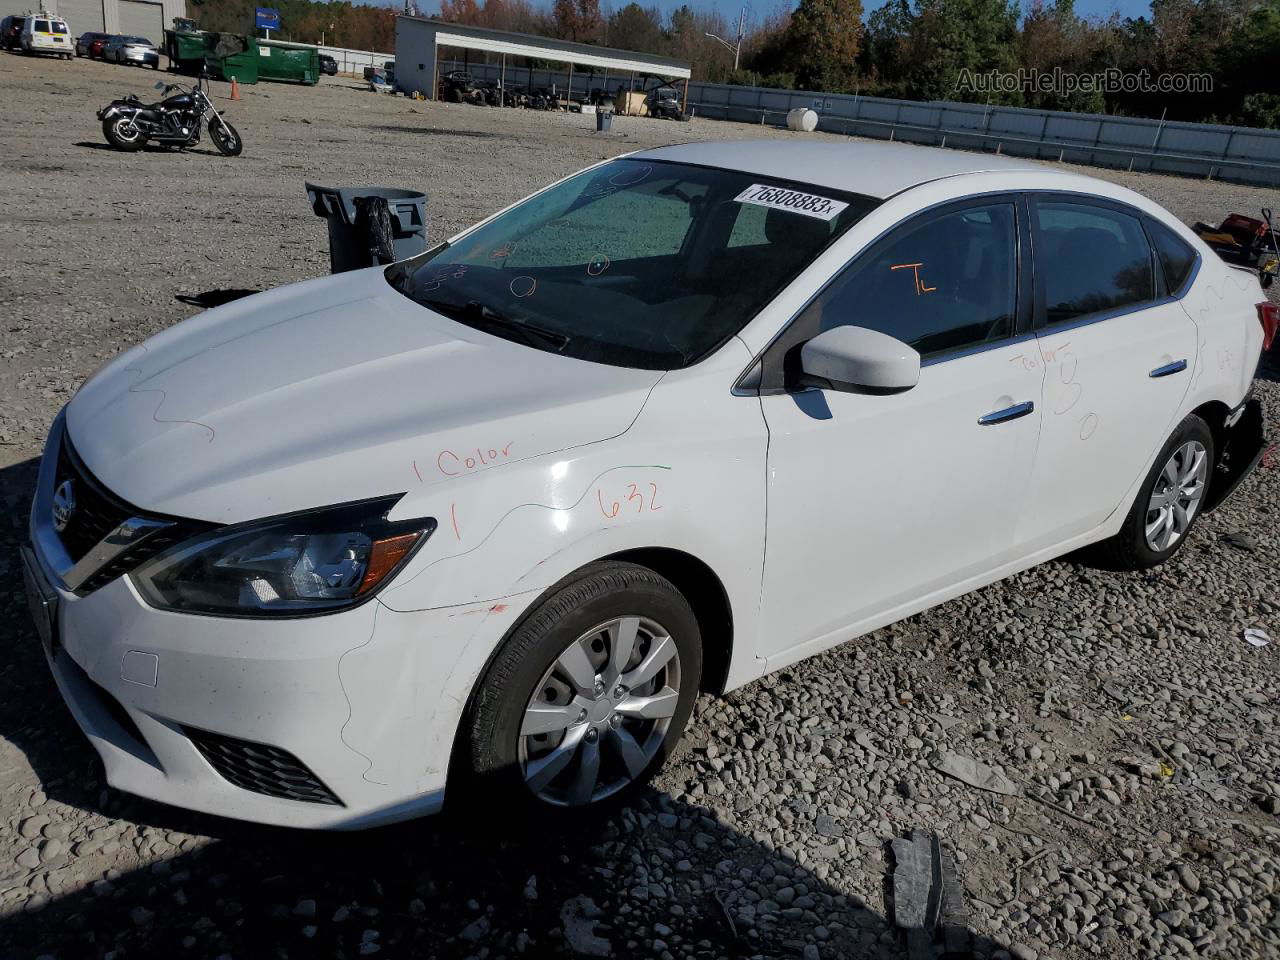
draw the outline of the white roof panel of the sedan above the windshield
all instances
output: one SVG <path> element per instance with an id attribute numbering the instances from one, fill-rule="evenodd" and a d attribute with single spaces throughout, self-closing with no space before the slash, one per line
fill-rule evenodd
<path id="1" fill-rule="evenodd" d="M 993 154 L 860 141 L 705 141 L 644 150 L 632 154 L 632 157 L 719 166 L 881 200 L 945 177 L 1046 169 L 1028 160 Z"/>

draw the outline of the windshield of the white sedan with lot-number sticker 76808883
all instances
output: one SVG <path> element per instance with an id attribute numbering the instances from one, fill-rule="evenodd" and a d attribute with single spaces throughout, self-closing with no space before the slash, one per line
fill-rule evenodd
<path id="1" fill-rule="evenodd" d="M 736 334 L 878 201 L 614 160 L 388 268 L 460 323 L 579 360 L 673 370 Z"/>

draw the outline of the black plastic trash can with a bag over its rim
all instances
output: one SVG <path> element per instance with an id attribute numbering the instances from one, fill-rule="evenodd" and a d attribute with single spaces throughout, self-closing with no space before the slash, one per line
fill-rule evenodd
<path id="1" fill-rule="evenodd" d="M 392 264 L 426 250 L 426 195 L 394 187 L 307 183 L 316 216 L 329 224 L 329 270 Z"/>

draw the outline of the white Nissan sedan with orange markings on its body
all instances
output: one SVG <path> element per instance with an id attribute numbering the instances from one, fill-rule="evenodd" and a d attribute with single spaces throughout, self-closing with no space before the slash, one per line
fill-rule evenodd
<path id="1" fill-rule="evenodd" d="M 1275 320 L 1088 177 L 634 154 L 108 364 L 50 431 L 32 608 L 122 790 L 576 815 L 700 690 L 1078 548 L 1169 559 L 1260 456 Z"/>

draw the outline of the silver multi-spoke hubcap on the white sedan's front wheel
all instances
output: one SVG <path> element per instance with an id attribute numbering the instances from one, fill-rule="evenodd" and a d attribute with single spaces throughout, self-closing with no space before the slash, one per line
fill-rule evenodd
<path id="1" fill-rule="evenodd" d="M 680 653 L 660 623 L 617 617 L 571 643 L 534 689 L 520 768 L 559 806 L 602 800 L 636 780 L 680 703 Z"/>

